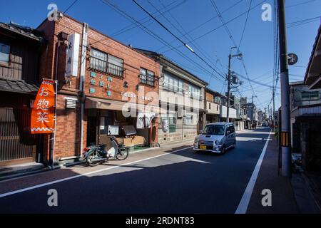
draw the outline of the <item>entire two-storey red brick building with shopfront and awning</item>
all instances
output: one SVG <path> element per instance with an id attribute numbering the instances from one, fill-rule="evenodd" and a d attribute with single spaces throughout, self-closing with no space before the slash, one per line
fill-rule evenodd
<path id="1" fill-rule="evenodd" d="M 57 162 L 76 159 L 86 145 L 108 144 L 108 135 L 135 148 L 156 145 L 159 63 L 66 15 L 37 29 L 48 41 L 40 77 L 58 80 Z M 138 128 L 137 118 L 146 116 L 151 125 Z M 126 138 L 128 131 L 137 137 Z"/>

